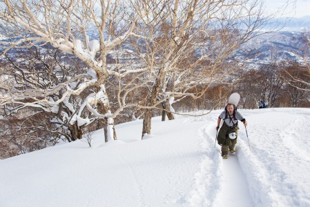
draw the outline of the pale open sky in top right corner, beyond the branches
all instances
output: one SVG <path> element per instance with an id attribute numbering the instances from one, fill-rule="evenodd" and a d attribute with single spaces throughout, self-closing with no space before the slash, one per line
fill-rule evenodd
<path id="1" fill-rule="evenodd" d="M 310 0 L 265 0 L 265 6 L 276 17 L 310 15 Z"/>

